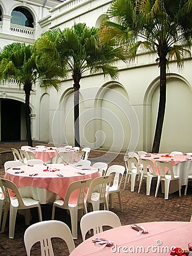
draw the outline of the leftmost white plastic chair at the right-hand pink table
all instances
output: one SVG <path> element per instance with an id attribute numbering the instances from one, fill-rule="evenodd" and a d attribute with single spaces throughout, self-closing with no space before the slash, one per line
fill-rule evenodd
<path id="1" fill-rule="evenodd" d="M 130 176 L 131 176 L 131 192 L 134 191 L 135 189 L 135 182 L 136 182 L 136 177 L 140 177 L 141 171 L 140 167 L 138 165 L 138 161 L 136 158 L 132 158 L 129 156 L 124 156 L 124 162 L 126 165 L 126 179 L 124 181 L 124 189 L 126 188 L 126 184 L 129 183 L 130 181 Z"/>

